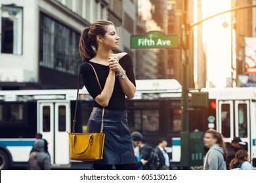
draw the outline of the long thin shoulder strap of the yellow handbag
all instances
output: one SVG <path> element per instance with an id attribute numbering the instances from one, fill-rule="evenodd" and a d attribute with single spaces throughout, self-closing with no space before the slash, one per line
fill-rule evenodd
<path id="1" fill-rule="evenodd" d="M 91 63 L 88 63 L 88 64 L 91 65 Z M 97 73 L 95 71 L 95 68 L 93 67 L 93 65 L 91 65 L 91 67 L 93 68 L 93 72 L 95 73 L 95 77 L 96 77 L 96 80 L 98 82 L 98 86 L 100 87 L 100 90 L 102 91 L 102 87 L 100 85 L 100 80 L 98 79 L 98 75 L 97 75 Z M 78 93 L 79 93 L 80 78 L 81 78 L 81 70 L 79 71 L 79 78 L 78 78 L 78 82 L 77 82 L 77 93 L 76 93 L 76 101 L 75 101 L 75 115 L 74 115 L 74 120 L 73 120 L 73 133 L 75 133 L 75 122 L 76 122 L 76 112 L 77 112 L 77 103 L 78 103 Z M 102 118 L 101 118 L 100 133 L 103 133 L 104 112 L 105 112 L 105 107 L 102 108 Z"/>

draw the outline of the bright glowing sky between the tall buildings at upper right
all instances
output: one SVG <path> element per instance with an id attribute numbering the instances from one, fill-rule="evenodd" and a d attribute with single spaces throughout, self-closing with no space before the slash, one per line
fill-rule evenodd
<path id="1" fill-rule="evenodd" d="M 230 0 L 202 0 L 203 18 L 229 10 Z M 203 22 L 203 43 L 207 57 L 207 80 L 215 82 L 217 88 L 226 86 L 231 77 L 231 13 L 226 13 Z M 223 22 L 228 27 L 223 27 Z"/>

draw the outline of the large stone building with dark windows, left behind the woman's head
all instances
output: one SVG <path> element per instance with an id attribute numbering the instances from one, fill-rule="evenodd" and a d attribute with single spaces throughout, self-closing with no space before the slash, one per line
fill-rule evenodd
<path id="1" fill-rule="evenodd" d="M 136 29 L 137 1 L 2 0 L 0 90 L 76 88 L 83 27 L 111 20 L 128 52 Z M 82 84 L 81 84 L 82 86 Z"/>

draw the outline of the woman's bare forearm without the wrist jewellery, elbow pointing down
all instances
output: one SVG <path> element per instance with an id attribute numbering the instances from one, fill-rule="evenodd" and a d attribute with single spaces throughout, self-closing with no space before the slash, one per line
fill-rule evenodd
<path id="1" fill-rule="evenodd" d="M 115 79 L 115 73 L 113 71 L 110 71 L 108 77 L 106 78 L 105 86 L 104 88 L 102 88 L 102 92 L 95 98 L 95 101 L 102 107 L 108 106 L 108 103 L 114 90 Z"/>

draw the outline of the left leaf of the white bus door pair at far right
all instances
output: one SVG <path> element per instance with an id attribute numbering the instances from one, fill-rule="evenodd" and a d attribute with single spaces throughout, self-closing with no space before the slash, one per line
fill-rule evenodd
<path id="1" fill-rule="evenodd" d="M 231 142 L 234 137 L 234 107 L 233 101 L 219 101 L 217 131 L 225 142 Z"/>

